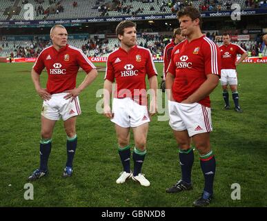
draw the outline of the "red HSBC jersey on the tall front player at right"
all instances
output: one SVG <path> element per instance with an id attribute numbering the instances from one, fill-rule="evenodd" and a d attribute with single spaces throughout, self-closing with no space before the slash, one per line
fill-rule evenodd
<path id="1" fill-rule="evenodd" d="M 182 102 L 206 81 L 206 75 L 221 75 L 221 57 L 218 46 L 208 37 L 202 36 L 190 42 L 186 39 L 172 50 L 168 73 L 175 75 L 172 97 Z M 210 107 L 210 97 L 199 104 Z"/>

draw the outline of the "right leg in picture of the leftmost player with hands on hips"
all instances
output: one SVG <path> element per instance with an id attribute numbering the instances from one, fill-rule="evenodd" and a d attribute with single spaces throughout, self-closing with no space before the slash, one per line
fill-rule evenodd
<path id="1" fill-rule="evenodd" d="M 69 177 L 72 175 L 72 164 L 77 148 L 76 120 L 77 116 L 70 117 L 64 121 L 64 128 L 67 135 L 67 162 L 62 175 L 63 177 Z"/>

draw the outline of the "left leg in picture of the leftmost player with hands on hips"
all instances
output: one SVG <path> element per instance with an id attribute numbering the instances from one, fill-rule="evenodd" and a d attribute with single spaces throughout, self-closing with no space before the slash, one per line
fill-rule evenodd
<path id="1" fill-rule="evenodd" d="M 52 148 L 52 132 L 56 122 L 41 115 L 40 166 L 28 177 L 29 181 L 37 180 L 48 173 L 48 157 Z"/>

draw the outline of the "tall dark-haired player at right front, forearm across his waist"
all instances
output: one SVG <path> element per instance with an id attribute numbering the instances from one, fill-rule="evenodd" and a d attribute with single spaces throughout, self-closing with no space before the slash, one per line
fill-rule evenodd
<path id="1" fill-rule="evenodd" d="M 192 189 L 191 171 L 194 153 L 190 137 L 199 151 L 205 186 L 194 206 L 207 206 L 213 194 L 215 156 L 210 147 L 212 131 L 209 95 L 219 82 L 219 48 L 201 33 L 201 14 L 186 7 L 177 13 L 186 40 L 172 50 L 166 78 L 170 126 L 179 144 L 181 180 L 166 189 L 177 193 Z"/>

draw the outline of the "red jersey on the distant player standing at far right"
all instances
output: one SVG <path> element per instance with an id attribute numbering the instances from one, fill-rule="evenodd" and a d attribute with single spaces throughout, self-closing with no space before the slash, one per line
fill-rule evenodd
<path id="1" fill-rule="evenodd" d="M 221 51 L 221 69 L 236 69 L 237 54 L 243 55 L 246 53 L 246 50 L 233 43 L 228 46 L 223 44 L 219 46 L 219 50 Z"/>

